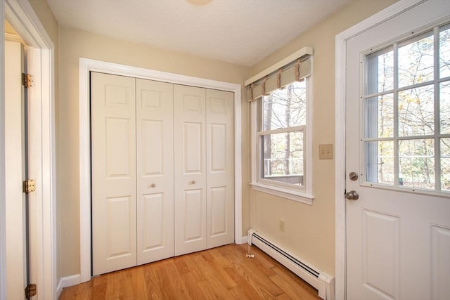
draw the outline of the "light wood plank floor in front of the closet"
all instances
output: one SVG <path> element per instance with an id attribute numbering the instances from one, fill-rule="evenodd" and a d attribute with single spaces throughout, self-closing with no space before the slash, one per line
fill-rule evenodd
<path id="1" fill-rule="evenodd" d="M 320 299 L 317 290 L 252 246 L 229 244 L 93 278 L 65 299 Z"/>

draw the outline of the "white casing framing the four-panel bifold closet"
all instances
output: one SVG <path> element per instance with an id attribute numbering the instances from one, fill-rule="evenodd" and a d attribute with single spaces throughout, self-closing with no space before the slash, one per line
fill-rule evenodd
<path id="1" fill-rule="evenodd" d="M 131 67 L 101 60 L 79 58 L 79 210 L 80 210 L 80 276 L 79 282 L 91 280 L 91 139 L 90 139 L 90 72 L 165 81 L 234 93 L 234 241 L 243 244 L 242 235 L 242 167 L 241 167 L 241 89 L 240 84 L 215 81 L 181 74 Z M 78 281 L 78 280 L 76 280 Z"/>

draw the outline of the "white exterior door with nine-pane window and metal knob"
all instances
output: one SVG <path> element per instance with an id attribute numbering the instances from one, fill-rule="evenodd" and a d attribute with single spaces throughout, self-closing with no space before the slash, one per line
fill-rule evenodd
<path id="1" fill-rule="evenodd" d="M 347 41 L 347 299 L 450 299 L 450 6 Z"/>

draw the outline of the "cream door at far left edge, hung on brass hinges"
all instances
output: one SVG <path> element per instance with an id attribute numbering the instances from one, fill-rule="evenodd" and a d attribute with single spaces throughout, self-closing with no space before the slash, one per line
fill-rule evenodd
<path id="1" fill-rule="evenodd" d="M 24 299 L 27 285 L 23 47 L 5 41 L 6 298 Z"/>

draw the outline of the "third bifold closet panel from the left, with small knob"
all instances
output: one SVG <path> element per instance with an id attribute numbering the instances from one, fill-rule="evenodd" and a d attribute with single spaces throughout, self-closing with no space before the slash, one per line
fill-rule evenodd
<path id="1" fill-rule="evenodd" d="M 206 249 L 205 89 L 174 85 L 175 255 Z"/>

